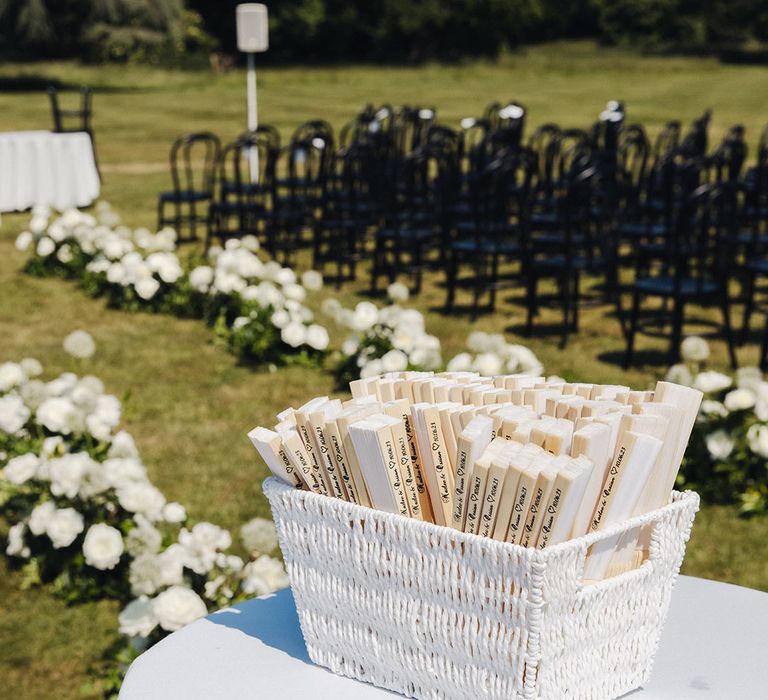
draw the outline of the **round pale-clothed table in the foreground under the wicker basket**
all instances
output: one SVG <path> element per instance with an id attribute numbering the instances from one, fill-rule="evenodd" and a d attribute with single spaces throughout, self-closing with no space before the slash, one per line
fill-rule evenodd
<path id="1" fill-rule="evenodd" d="M 122 700 L 400 697 L 309 660 L 290 590 L 220 610 L 140 656 Z M 631 700 L 768 698 L 768 594 L 681 576 L 650 683 Z"/>

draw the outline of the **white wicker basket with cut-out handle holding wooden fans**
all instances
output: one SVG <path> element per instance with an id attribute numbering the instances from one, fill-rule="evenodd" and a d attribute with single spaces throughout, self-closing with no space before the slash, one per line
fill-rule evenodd
<path id="1" fill-rule="evenodd" d="M 647 680 L 699 498 L 535 550 L 267 479 L 307 650 L 415 698 L 616 698 Z M 651 525 L 649 558 L 593 585 L 589 546 Z"/>

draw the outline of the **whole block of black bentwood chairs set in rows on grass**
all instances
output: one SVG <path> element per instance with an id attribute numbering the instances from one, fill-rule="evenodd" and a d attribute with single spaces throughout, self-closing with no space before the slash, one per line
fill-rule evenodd
<path id="1" fill-rule="evenodd" d="M 474 316 L 495 308 L 498 290 L 520 286 L 529 332 L 540 283 L 553 280 L 563 345 L 587 277 L 617 309 L 627 363 L 648 297 L 665 300 L 673 355 L 685 308 L 728 299 L 730 279 L 742 282 L 748 324 L 768 276 L 758 264 L 768 130 L 744 173 L 744 130 L 708 153 L 709 113 L 686 131 L 668 123 L 654 142 L 616 103 L 589 130 L 545 124 L 525 139 L 525 117 L 522 105 L 495 103 L 451 129 L 433 108 L 384 105 L 365 108 L 338 138 L 317 120 L 285 146 L 271 127 L 224 148 L 213 134 L 185 136 L 172 149 L 174 190 L 160 196 L 159 223 L 192 236 L 204 226 L 207 241 L 253 233 L 286 262 L 310 247 L 316 267 L 335 265 L 337 284 L 370 259 L 374 291 L 382 277 L 407 274 L 418 293 L 425 271 L 439 269 L 449 312 L 461 289 Z M 730 304 L 719 305 L 733 356 Z"/>

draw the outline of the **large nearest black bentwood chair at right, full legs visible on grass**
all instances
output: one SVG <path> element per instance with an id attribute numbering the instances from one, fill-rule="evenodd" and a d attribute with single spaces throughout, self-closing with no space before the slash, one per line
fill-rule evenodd
<path id="1" fill-rule="evenodd" d="M 734 209 L 735 200 L 728 190 L 712 184 L 697 188 L 681 203 L 665 241 L 664 255 L 651 269 L 639 270 L 631 285 L 632 308 L 625 329 L 625 367 L 632 364 L 640 306 L 648 297 L 665 302 L 661 313 L 664 326 L 671 328 L 670 362 L 679 357 L 686 307 L 718 305 L 723 315 L 722 330 L 731 365 L 736 367 L 728 298 Z"/>

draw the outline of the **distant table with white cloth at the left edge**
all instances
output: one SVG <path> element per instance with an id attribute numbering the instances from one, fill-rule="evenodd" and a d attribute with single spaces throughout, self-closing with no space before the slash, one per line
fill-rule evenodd
<path id="1" fill-rule="evenodd" d="M 85 132 L 0 132 L 0 212 L 85 207 L 99 196 L 99 187 Z"/>

